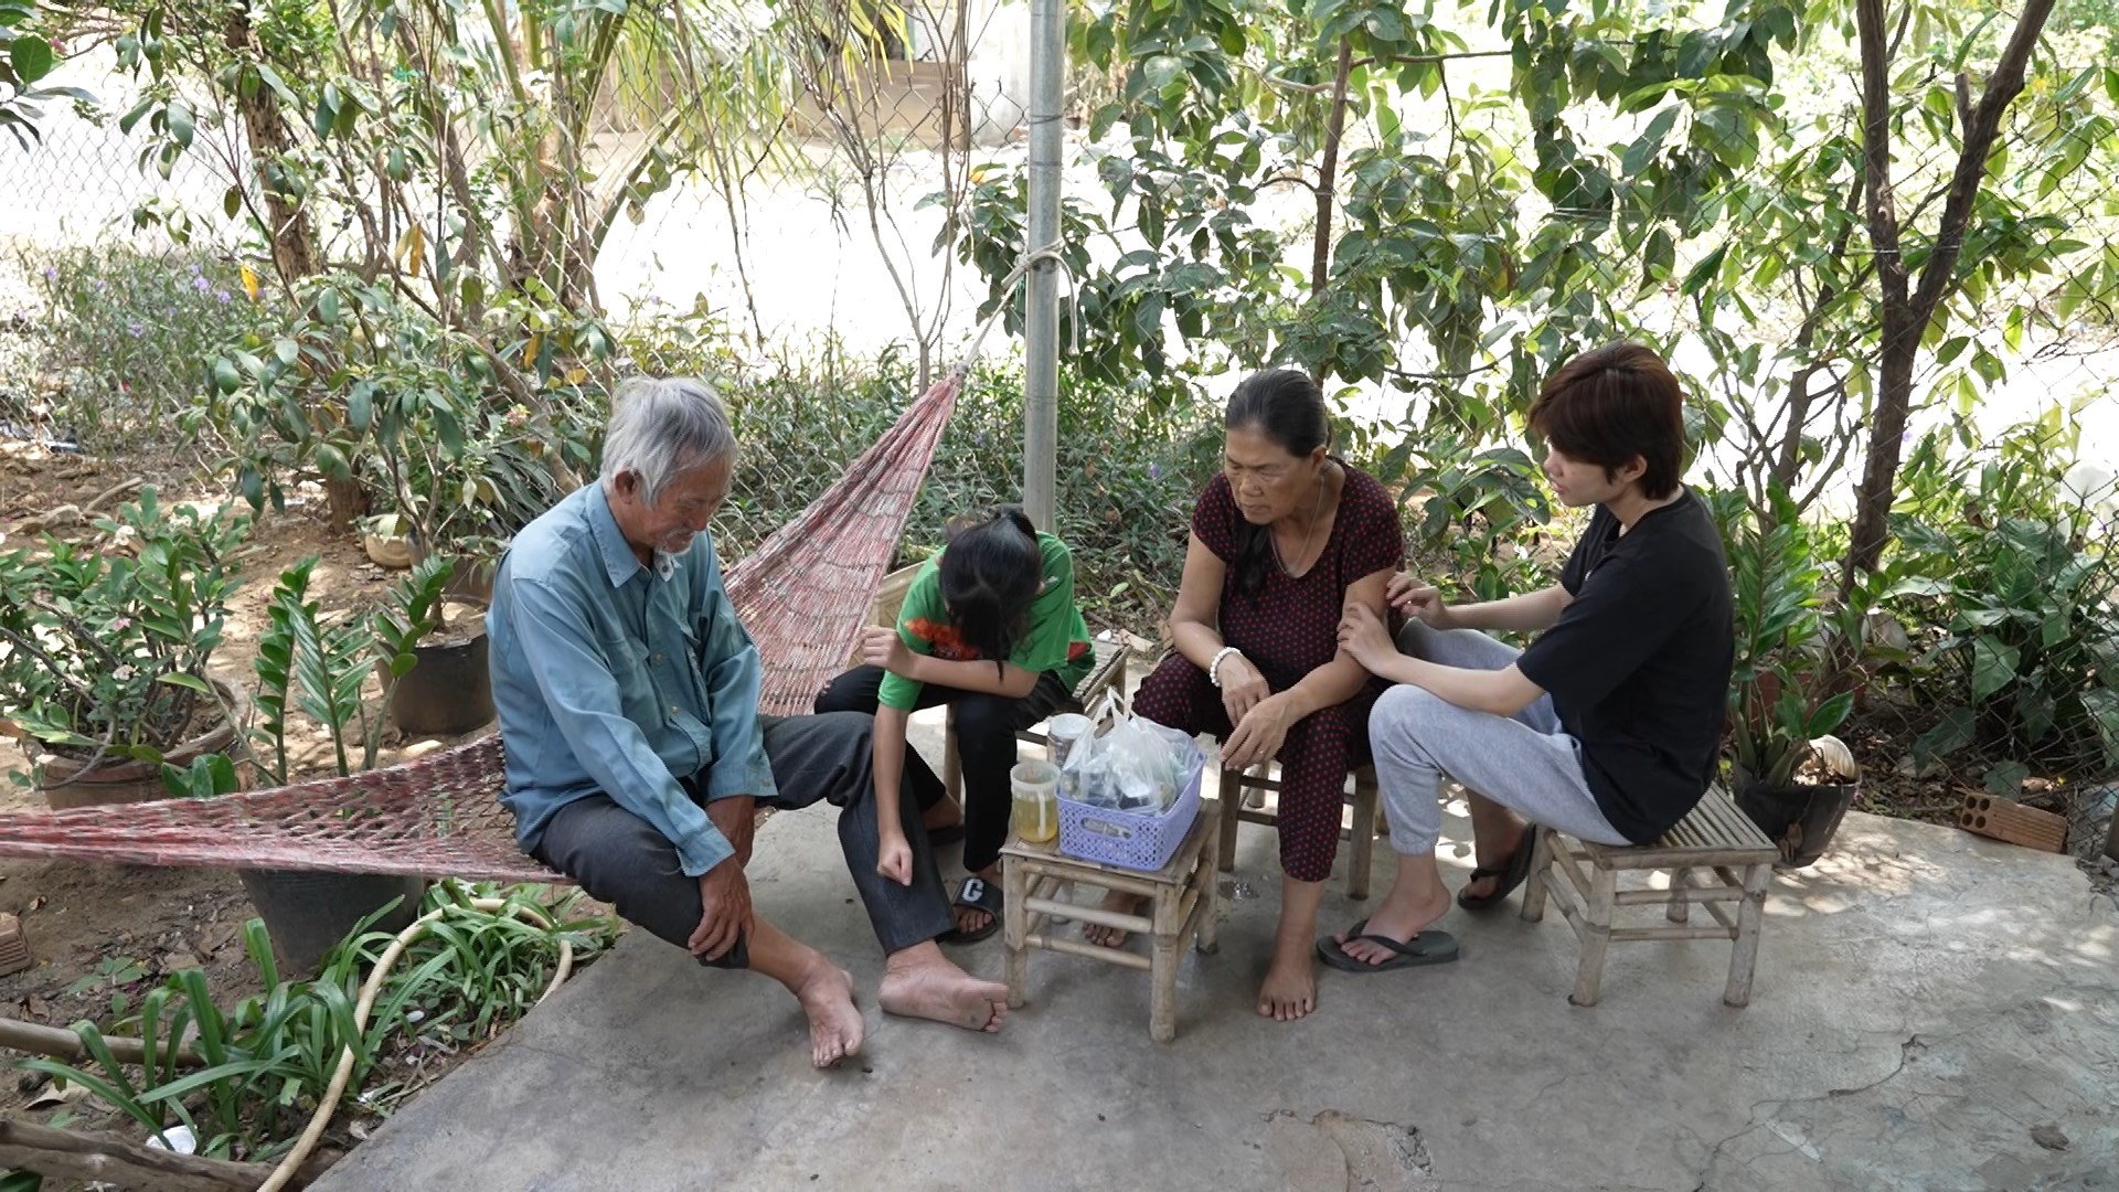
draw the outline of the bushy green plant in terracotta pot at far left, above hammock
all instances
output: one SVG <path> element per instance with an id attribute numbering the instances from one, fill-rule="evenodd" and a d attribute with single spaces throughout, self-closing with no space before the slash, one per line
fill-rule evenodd
<path id="1" fill-rule="evenodd" d="M 163 761 L 235 738 L 239 696 L 206 666 L 250 520 L 144 488 L 95 530 L 0 556 L 0 723 L 32 753 L 15 781 L 53 808 L 159 800 Z"/>

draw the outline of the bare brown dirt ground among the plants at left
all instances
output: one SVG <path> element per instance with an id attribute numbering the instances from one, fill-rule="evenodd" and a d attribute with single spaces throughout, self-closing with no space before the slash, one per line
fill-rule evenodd
<path id="1" fill-rule="evenodd" d="M 97 460 L 53 452 L 36 443 L 0 439 L 0 551 L 34 545 L 38 520 L 59 537 L 93 532 L 89 522 L 129 501 L 133 490 L 110 496 L 123 481 L 155 484 L 161 498 L 218 505 L 225 494 L 197 484 L 186 460 Z M 104 496 L 102 507 L 91 503 Z M 68 507 L 83 511 L 81 518 Z M 53 511 L 59 511 L 53 518 Z M 25 534 L 23 528 L 32 532 Z M 352 534 L 333 532 L 322 518 L 322 494 L 297 494 L 286 511 L 265 511 L 239 549 L 244 588 L 227 624 L 227 641 L 212 670 L 237 689 L 254 683 L 259 630 L 265 602 L 280 571 L 316 554 L 309 594 L 322 609 L 362 609 L 384 598 L 396 573 L 373 566 Z M 381 698 L 371 681 L 369 698 Z M 299 719 L 299 717 L 295 717 Z M 328 738 L 305 721 L 290 725 L 295 776 L 328 772 Z M 479 730 L 479 736 L 489 730 Z M 447 749 L 466 738 L 398 740 L 386 734 L 379 766 Z M 28 774 L 30 759 L 13 740 L 0 738 L 0 772 Z M 0 810 L 42 810 L 44 797 L 0 776 Z M 239 878 L 229 870 L 161 870 L 142 865 L 85 865 L 74 861 L 0 859 L 0 910 L 17 914 L 34 965 L 0 978 L 0 1016 L 51 1027 L 81 1018 L 110 1022 L 112 995 L 138 1005 L 144 991 L 186 967 L 206 971 L 222 1005 L 259 991 L 259 974 L 244 950 L 242 927 L 254 916 Z M 453 1056 L 400 1056 L 432 1080 Z M 434 1063 L 434 1060 L 441 1063 Z M 405 1077 L 409 1073 L 400 1073 Z M 17 1111 L 42 1092 L 40 1077 L 0 1082 L 0 1111 Z M 91 1103 L 44 1105 L 32 1120 L 53 1124 L 72 1118 L 74 1128 L 106 1124 Z M 352 1130 L 352 1135 L 348 1135 Z M 364 1130 L 360 1116 L 341 1109 L 333 1133 L 339 1139 Z M 125 1130 L 131 1133 L 131 1130 Z"/>

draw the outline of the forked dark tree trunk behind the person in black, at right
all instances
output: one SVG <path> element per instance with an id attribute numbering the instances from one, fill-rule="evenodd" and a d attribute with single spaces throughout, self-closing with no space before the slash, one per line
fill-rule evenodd
<path id="1" fill-rule="evenodd" d="M 1875 416 L 1869 420 L 1869 460 L 1854 490 L 1854 528 L 1850 532 L 1841 590 L 1852 590 L 1865 571 L 1875 571 L 1890 537 L 1890 505 L 1897 496 L 1903 437 L 1913 407 L 1913 363 L 1920 339 L 1943 293 L 1956 284 L 1958 252 L 1964 248 L 1964 227 L 1971 223 L 1979 182 L 1986 178 L 1988 155 L 2000 119 L 2024 91 L 2024 64 L 2038 45 L 2053 0 L 2026 0 L 2009 45 L 1994 62 L 1979 106 L 1964 119 L 1962 151 L 1949 178 L 1949 193 L 1937 223 L 1933 250 L 1911 288 L 1905 255 L 1899 248 L 1899 214 L 1890 187 L 1890 45 L 1884 32 L 1884 0 L 1856 0 L 1854 23 L 1860 38 L 1863 85 L 1863 170 L 1869 197 L 1869 240 L 1875 248 L 1882 297 L 1884 346 L 1877 367 Z"/>

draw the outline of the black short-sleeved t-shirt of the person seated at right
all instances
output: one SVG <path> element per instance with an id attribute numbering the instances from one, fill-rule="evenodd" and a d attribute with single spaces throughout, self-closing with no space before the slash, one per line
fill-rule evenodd
<path id="1" fill-rule="evenodd" d="M 1515 666 L 1551 691 L 1604 819 L 1646 844 L 1714 778 L 1735 662 L 1729 560 L 1687 490 L 1623 534 L 1598 507 L 1560 583 L 1574 602 Z"/>

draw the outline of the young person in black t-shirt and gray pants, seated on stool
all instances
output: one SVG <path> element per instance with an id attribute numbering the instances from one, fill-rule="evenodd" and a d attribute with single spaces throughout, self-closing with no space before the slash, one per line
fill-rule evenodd
<path id="1" fill-rule="evenodd" d="M 1435 865 L 1441 778 L 1471 793 L 1477 867 L 1458 906 L 1498 906 L 1530 874 L 1526 819 L 1579 840 L 1642 844 L 1714 776 L 1735 630 L 1729 564 L 1706 505 L 1678 484 L 1676 378 L 1638 344 L 1568 361 L 1530 411 L 1564 505 L 1596 505 L 1560 583 L 1452 609 L 1407 575 L 1390 602 L 1396 645 L 1369 609 L 1339 641 L 1399 683 L 1369 717 L 1399 876 L 1377 912 L 1318 942 L 1333 967 L 1377 971 L 1456 959 L 1430 925 L 1449 910 Z M 1538 632 L 1515 649 L 1481 630 Z"/>

